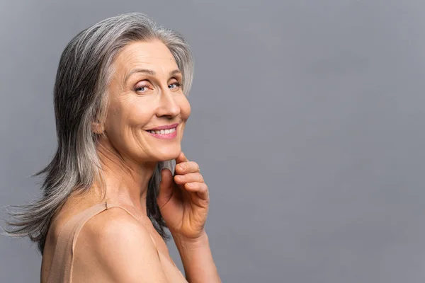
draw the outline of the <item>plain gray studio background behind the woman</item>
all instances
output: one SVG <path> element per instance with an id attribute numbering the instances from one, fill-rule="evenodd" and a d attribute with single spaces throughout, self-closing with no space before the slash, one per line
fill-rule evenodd
<path id="1" fill-rule="evenodd" d="M 39 193 L 26 177 L 55 151 L 52 87 L 67 42 L 141 11 L 193 48 L 183 150 L 210 187 L 223 282 L 424 282 L 424 8 L 2 1 L 0 205 Z M 38 282 L 39 270 L 35 245 L 0 237 L 0 282 Z"/>

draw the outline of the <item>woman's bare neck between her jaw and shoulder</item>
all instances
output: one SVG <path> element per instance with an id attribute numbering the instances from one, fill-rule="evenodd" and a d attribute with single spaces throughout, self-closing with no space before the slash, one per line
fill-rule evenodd
<path id="1" fill-rule="evenodd" d="M 146 213 L 147 187 L 156 162 L 140 163 L 116 151 L 109 141 L 98 144 L 98 156 L 105 180 L 103 189 L 96 182 L 95 190 L 105 192 L 106 200 L 129 204 Z"/>

